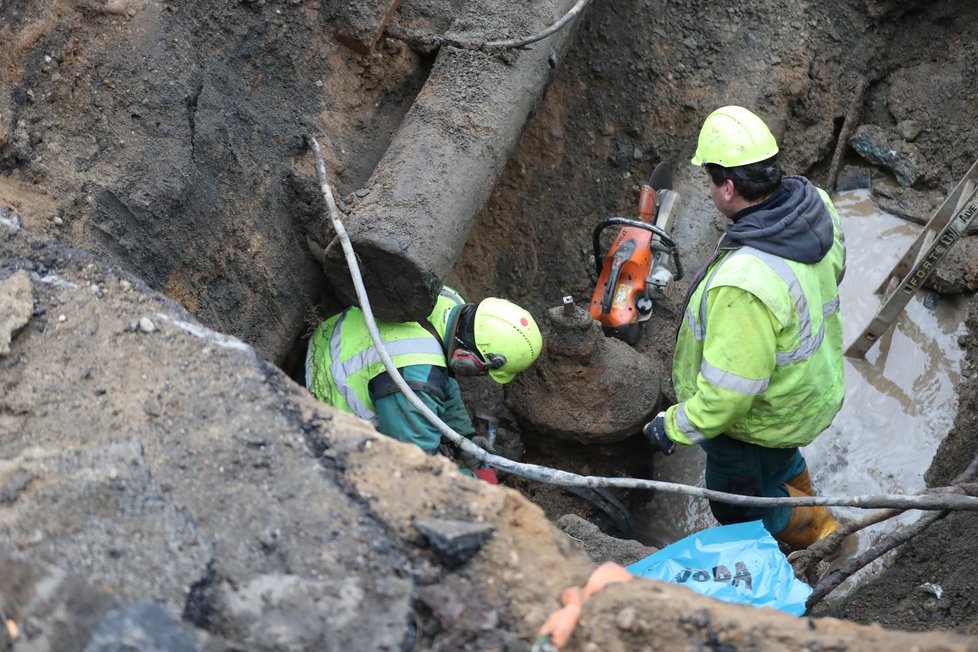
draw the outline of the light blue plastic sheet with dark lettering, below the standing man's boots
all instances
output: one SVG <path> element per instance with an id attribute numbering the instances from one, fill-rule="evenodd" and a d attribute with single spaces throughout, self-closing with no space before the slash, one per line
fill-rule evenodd
<path id="1" fill-rule="evenodd" d="M 723 525 L 692 534 L 628 567 L 640 577 L 682 584 L 724 602 L 805 613 L 812 587 L 761 521 Z"/>

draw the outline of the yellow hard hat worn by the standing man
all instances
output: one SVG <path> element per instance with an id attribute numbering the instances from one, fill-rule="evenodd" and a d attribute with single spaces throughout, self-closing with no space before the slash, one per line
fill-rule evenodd
<path id="1" fill-rule="evenodd" d="M 733 168 L 769 159 L 777 153 L 778 142 L 763 120 L 742 106 L 725 106 L 703 121 L 692 163 Z"/>

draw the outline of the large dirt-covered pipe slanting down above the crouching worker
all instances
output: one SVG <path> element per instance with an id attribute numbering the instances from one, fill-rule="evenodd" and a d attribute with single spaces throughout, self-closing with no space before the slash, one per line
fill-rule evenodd
<path id="1" fill-rule="evenodd" d="M 465 34 L 481 42 L 543 31 L 571 0 L 468 3 Z M 520 135 L 542 100 L 574 23 L 528 49 L 502 54 L 442 47 L 363 197 L 344 224 L 375 314 L 423 319 L 468 238 Z M 477 26 L 478 29 L 474 29 Z M 358 195 L 363 193 L 357 193 Z M 356 302 L 334 239 L 324 270 L 342 300 Z"/>

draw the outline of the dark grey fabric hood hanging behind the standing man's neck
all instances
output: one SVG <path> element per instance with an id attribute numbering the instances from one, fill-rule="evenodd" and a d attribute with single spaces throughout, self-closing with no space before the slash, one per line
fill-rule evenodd
<path id="1" fill-rule="evenodd" d="M 733 216 L 721 249 L 754 247 L 800 263 L 817 263 L 834 243 L 832 216 L 815 185 L 786 176 L 773 195 Z"/>

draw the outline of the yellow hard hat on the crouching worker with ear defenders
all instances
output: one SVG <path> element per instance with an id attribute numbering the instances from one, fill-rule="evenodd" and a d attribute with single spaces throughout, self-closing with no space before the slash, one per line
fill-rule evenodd
<path id="1" fill-rule="evenodd" d="M 543 336 L 530 313 L 505 299 L 483 299 L 475 311 L 475 345 L 489 376 L 508 383 L 540 355 Z"/>

